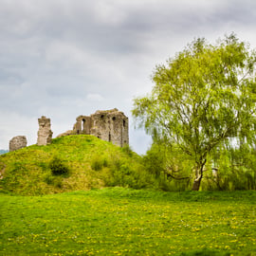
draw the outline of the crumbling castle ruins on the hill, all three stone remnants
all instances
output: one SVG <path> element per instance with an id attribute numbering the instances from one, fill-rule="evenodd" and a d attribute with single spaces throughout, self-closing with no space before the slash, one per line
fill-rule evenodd
<path id="1" fill-rule="evenodd" d="M 128 118 L 117 108 L 98 110 L 90 116 L 79 116 L 76 120 L 73 130 L 69 130 L 58 137 L 92 135 L 102 140 L 112 142 L 119 147 L 129 144 Z M 42 116 L 41 119 L 38 119 L 38 124 L 37 145 L 50 144 L 52 140 L 50 119 L 46 119 L 45 116 Z M 27 138 L 25 136 L 13 137 L 9 141 L 9 151 L 24 147 L 27 147 Z"/>

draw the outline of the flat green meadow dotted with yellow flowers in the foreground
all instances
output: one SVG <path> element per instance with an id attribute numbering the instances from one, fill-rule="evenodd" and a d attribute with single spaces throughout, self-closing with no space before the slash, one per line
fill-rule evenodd
<path id="1" fill-rule="evenodd" d="M 256 192 L 0 194 L 0 255 L 256 255 Z"/>

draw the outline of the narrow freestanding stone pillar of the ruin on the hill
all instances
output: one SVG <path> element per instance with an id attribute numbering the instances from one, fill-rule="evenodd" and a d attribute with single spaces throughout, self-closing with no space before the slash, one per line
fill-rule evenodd
<path id="1" fill-rule="evenodd" d="M 38 119 L 39 130 L 37 133 L 37 145 L 47 145 L 51 143 L 52 131 L 50 130 L 50 119 L 42 116 Z"/>

